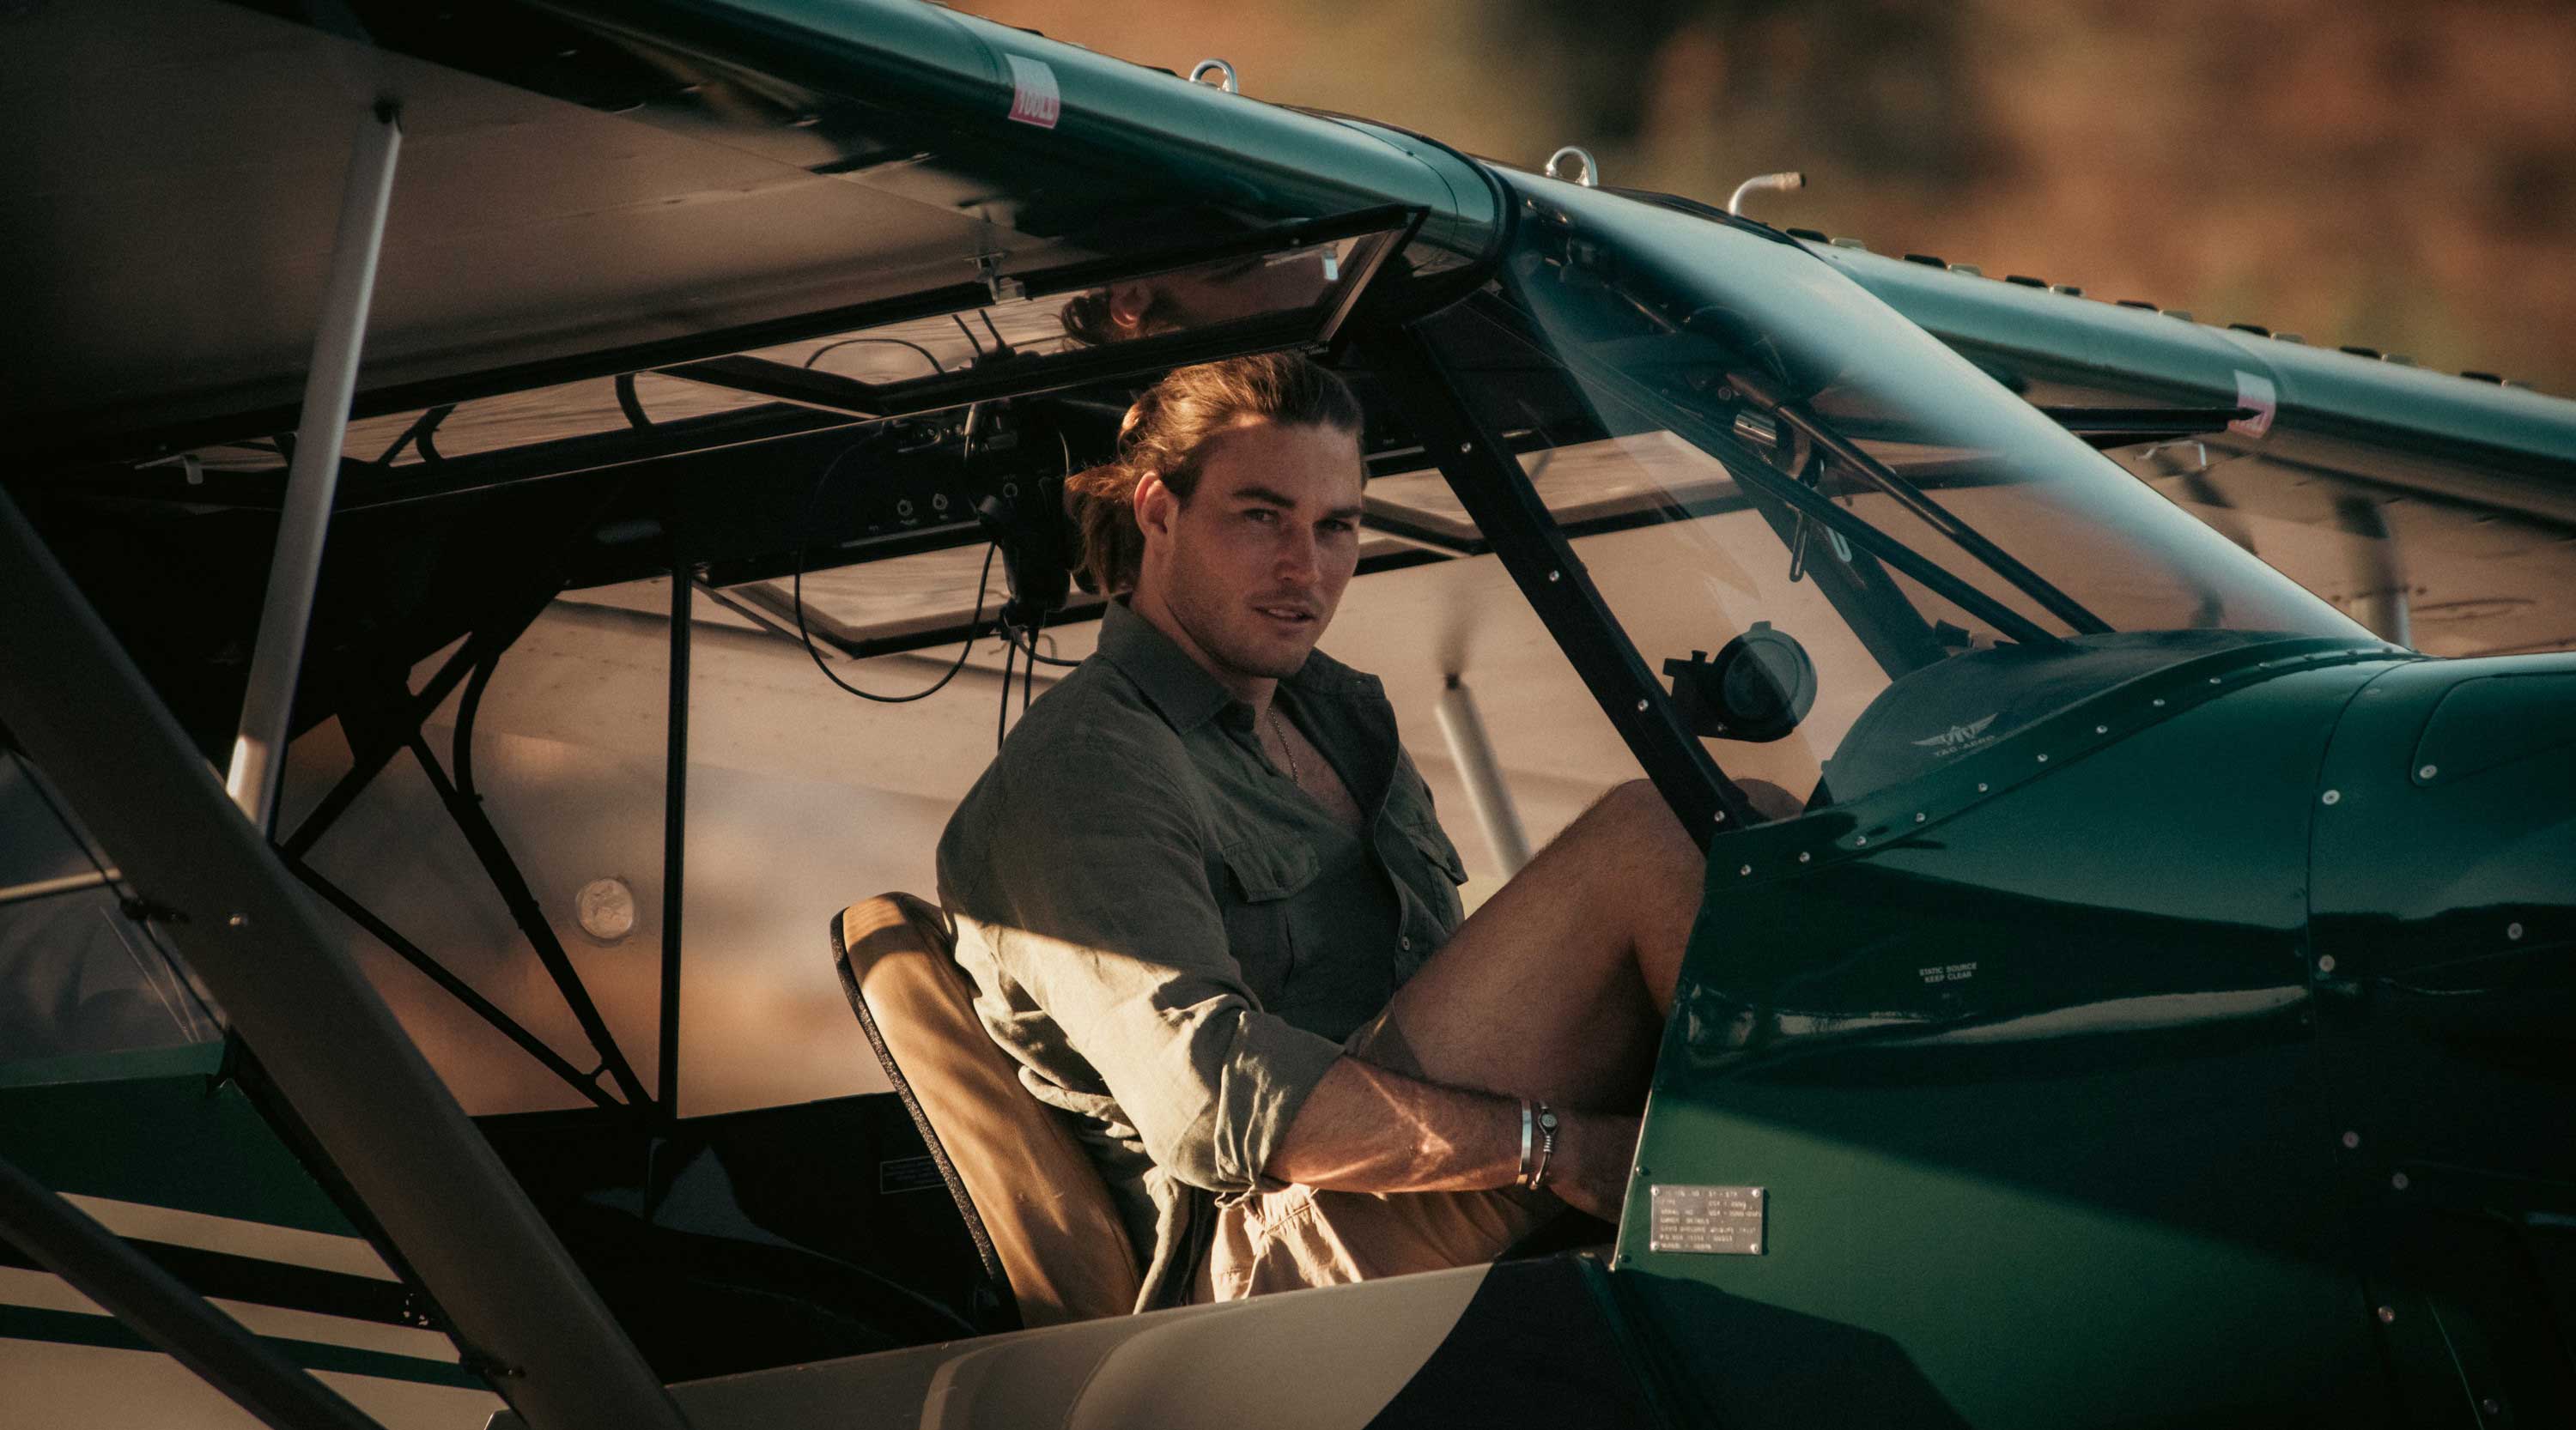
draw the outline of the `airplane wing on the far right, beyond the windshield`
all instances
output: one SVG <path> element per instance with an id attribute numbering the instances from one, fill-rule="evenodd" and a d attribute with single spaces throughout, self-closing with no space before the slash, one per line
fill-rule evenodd
<path id="1" fill-rule="evenodd" d="M 2576 647 L 2568 402 L 1798 237 L 2380 636 L 2455 657 Z"/>

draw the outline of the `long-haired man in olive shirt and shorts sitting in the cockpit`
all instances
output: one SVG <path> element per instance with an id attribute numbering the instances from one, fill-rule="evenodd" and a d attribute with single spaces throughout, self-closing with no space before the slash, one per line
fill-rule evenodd
<path id="1" fill-rule="evenodd" d="M 1100 649 L 948 822 L 984 1028 L 1100 1165 L 1141 1306 L 1489 1260 L 1618 1219 L 1703 861 L 1613 788 L 1461 922 L 1376 678 L 1314 649 L 1360 405 L 1298 356 L 1180 368 L 1072 482 Z"/>

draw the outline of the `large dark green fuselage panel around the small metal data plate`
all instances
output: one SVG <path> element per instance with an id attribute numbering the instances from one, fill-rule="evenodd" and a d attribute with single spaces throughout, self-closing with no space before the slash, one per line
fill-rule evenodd
<path id="1" fill-rule="evenodd" d="M 1615 1275 L 1674 1394 L 1728 1427 L 2383 1417 L 2308 837 L 2391 665 L 2192 660 L 1710 845 Z M 1759 1255 L 1651 1250 L 1659 1185 L 1762 1188 Z"/>

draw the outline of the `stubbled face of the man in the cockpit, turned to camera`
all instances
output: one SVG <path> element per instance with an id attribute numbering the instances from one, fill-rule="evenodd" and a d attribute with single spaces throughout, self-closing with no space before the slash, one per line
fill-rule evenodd
<path id="1" fill-rule="evenodd" d="M 1360 441 L 1247 420 L 1208 441 L 1190 500 L 1136 497 L 1136 605 L 1229 688 L 1306 665 L 1360 562 Z M 1157 621 L 1164 624 L 1164 621 Z"/>

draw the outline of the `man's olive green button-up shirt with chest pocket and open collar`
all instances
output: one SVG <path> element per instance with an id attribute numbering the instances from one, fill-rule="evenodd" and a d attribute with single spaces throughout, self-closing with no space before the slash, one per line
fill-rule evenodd
<path id="1" fill-rule="evenodd" d="M 1188 1293 L 1213 1196 L 1265 1175 L 1342 1038 L 1458 928 L 1466 868 L 1373 675 L 1316 652 L 1275 709 L 1342 776 L 1352 835 L 1262 752 L 1252 709 L 1110 603 L 940 837 L 976 1013 L 1069 1113 L 1144 1257 Z"/>

